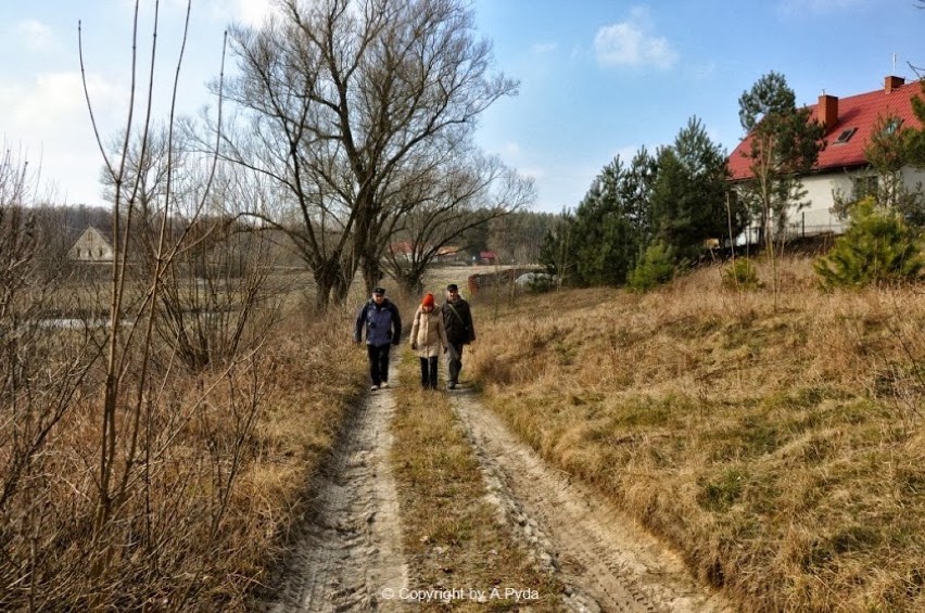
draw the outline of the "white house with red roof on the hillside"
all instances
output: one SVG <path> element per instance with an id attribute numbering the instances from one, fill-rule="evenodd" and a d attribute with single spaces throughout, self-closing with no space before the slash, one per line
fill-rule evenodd
<path id="1" fill-rule="evenodd" d="M 877 176 L 867 163 L 864 149 L 878 120 L 895 116 L 903 126 L 920 129 L 922 124 L 912 111 L 912 98 L 923 95 L 922 81 L 905 82 L 902 77 L 888 76 L 884 87 L 866 93 L 837 98 L 827 93 L 810 106 L 811 118 L 825 126 L 826 146 L 819 154 L 812 171 L 802 177 L 809 207 L 790 215 L 790 232 L 797 234 L 840 233 L 845 224 L 829 209 L 835 194 L 852 197 L 876 192 Z M 925 95 L 923 95 L 925 98 Z M 733 181 L 751 178 L 746 137 L 728 158 Z M 925 171 L 907 167 L 903 181 L 910 188 L 925 182 Z"/>

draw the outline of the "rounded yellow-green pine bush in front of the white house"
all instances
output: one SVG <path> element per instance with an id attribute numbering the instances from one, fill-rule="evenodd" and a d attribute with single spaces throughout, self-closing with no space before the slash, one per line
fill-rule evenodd
<path id="1" fill-rule="evenodd" d="M 902 217 L 865 199 L 851 210 L 847 232 L 813 268 L 824 288 L 914 282 L 925 271 L 918 241 Z"/>

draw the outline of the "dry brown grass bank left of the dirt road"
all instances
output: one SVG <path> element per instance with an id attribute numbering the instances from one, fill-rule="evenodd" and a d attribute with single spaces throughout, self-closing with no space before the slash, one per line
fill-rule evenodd
<path id="1" fill-rule="evenodd" d="M 0 609 L 248 610 L 307 477 L 360 397 L 366 360 L 351 325 L 294 315 L 258 359 L 223 376 L 166 372 L 145 412 L 155 455 L 129 472 L 129 496 L 96 542 L 91 374 L 0 509 Z M 251 400 L 256 422 L 242 426 Z M 2 465 L 14 451 L 0 448 Z"/>

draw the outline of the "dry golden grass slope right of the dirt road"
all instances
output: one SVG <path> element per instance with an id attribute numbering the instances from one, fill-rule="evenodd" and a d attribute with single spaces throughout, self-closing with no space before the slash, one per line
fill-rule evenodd
<path id="1" fill-rule="evenodd" d="M 470 368 L 549 462 L 668 537 L 744 610 L 925 609 L 925 292 L 524 297 Z M 470 372 L 472 372 L 470 370 Z"/>

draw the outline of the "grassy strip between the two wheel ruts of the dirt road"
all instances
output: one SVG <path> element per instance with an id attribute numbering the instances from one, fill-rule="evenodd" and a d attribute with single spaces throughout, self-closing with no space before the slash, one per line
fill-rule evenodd
<path id="1" fill-rule="evenodd" d="M 446 395 L 421 391 L 417 358 L 404 352 L 392 460 L 398 484 L 405 551 L 413 590 L 460 590 L 463 597 L 422 610 L 517 610 L 512 598 L 469 599 L 470 589 L 536 590 L 532 611 L 558 611 L 562 587 L 541 572 L 511 528 L 499 522 L 463 426 Z"/>

